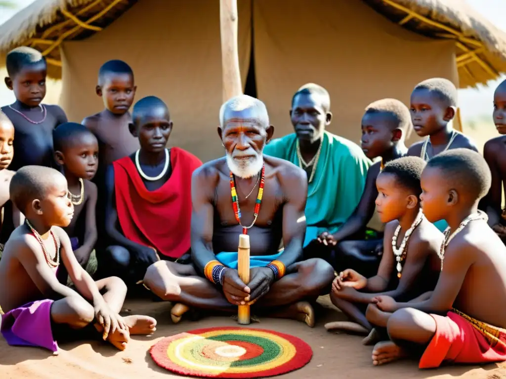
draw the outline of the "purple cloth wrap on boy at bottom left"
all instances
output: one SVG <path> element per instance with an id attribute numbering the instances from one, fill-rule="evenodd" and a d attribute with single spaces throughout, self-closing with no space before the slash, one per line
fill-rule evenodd
<path id="1" fill-rule="evenodd" d="M 51 330 L 53 300 L 38 300 L 13 309 L 2 316 L 2 335 L 11 346 L 43 347 L 58 351 Z"/>

